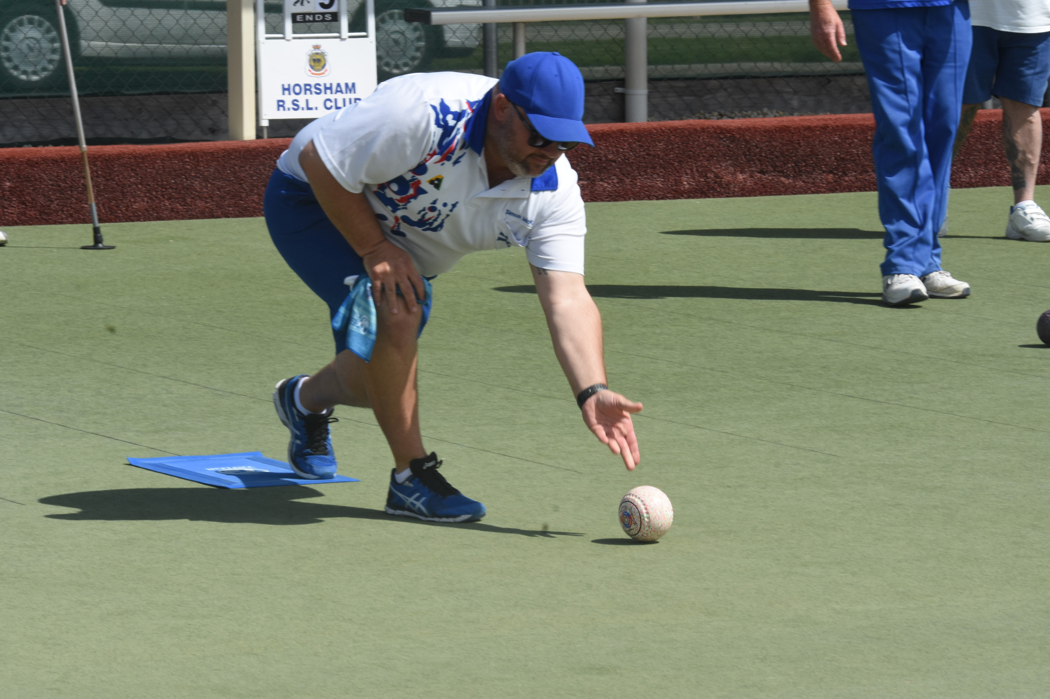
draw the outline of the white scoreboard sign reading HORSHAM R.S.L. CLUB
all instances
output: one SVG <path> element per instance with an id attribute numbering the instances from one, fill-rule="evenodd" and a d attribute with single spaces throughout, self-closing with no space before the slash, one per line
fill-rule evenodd
<path id="1" fill-rule="evenodd" d="M 366 30 L 357 32 L 348 28 L 346 2 L 285 0 L 284 31 L 273 34 L 267 29 L 264 0 L 256 1 L 260 126 L 269 126 L 270 119 L 323 116 L 375 91 L 373 0 L 365 0 Z M 295 26 L 301 24 L 311 26 Z M 328 31 L 307 32 L 318 24 Z"/>

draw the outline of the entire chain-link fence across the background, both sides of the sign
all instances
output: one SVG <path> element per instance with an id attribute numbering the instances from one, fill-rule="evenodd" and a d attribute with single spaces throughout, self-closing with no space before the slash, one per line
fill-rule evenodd
<path id="1" fill-rule="evenodd" d="M 376 0 L 380 80 L 419 70 L 482 72 L 480 27 L 404 21 L 405 7 L 425 4 Z M 280 3 L 266 8 L 268 25 L 279 31 Z M 227 137 L 225 1 L 69 0 L 65 18 L 89 143 Z M 648 20 L 650 118 L 868 111 L 848 13 L 843 19 L 850 36 L 840 64 L 812 46 L 802 14 Z M 352 30 L 363 22 L 360 6 Z M 580 66 L 587 81 L 585 121 L 623 121 L 623 20 L 529 23 L 525 36 L 528 50 L 560 51 Z M 499 53 L 502 67 L 512 57 L 509 25 L 499 27 Z M 75 143 L 67 94 L 54 0 L 0 0 L 0 145 Z M 269 132 L 291 135 L 303 124 L 271 122 Z"/>

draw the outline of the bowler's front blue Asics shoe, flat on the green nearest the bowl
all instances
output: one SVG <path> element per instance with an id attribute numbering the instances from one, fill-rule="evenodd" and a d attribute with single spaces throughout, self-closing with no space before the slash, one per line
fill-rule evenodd
<path id="1" fill-rule="evenodd" d="M 454 488 L 438 473 L 441 460 L 430 453 L 408 464 L 412 476 L 398 483 L 391 472 L 386 514 L 415 517 L 427 522 L 475 522 L 485 516 L 485 506 Z"/>

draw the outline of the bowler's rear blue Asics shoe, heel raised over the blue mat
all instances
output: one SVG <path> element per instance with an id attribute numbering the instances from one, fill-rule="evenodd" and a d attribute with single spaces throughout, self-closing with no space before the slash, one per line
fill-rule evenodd
<path id="1" fill-rule="evenodd" d="M 295 387 L 307 378 L 299 374 L 277 384 L 273 391 L 273 407 L 277 417 L 292 433 L 288 442 L 288 464 L 299 478 L 322 480 L 335 476 L 335 453 L 329 439 L 330 422 L 338 422 L 332 417 L 332 409 L 323 413 L 303 415 L 295 407 Z"/>

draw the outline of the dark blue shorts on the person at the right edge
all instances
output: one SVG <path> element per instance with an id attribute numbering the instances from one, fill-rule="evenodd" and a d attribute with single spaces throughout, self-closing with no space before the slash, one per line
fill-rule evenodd
<path id="1" fill-rule="evenodd" d="M 991 95 L 1043 106 L 1050 80 L 1050 31 L 1018 34 L 973 27 L 973 51 L 966 71 L 963 104 L 976 105 Z"/>

